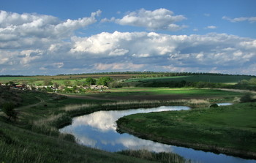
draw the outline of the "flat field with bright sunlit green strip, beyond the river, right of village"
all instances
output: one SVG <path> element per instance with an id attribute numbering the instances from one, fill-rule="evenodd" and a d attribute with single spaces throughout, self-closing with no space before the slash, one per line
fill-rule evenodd
<path id="1" fill-rule="evenodd" d="M 106 93 L 81 95 L 109 100 L 172 100 L 219 99 L 233 100 L 241 93 L 200 88 L 112 88 Z"/>

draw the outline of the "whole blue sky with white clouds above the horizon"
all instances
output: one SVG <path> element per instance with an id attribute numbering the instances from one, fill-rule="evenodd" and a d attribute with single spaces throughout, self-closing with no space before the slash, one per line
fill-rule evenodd
<path id="1" fill-rule="evenodd" d="M 255 0 L 0 0 L 0 75 L 256 75 Z"/>

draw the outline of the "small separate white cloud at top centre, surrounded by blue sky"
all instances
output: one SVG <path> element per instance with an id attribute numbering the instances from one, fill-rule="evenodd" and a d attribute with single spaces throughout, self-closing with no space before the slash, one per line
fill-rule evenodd
<path id="1" fill-rule="evenodd" d="M 186 19 L 184 15 L 174 15 L 172 11 L 166 9 L 154 11 L 140 9 L 136 12 L 129 12 L 121 19 L 111 18 L 108 20 L 105 18 L 102 22 L 113 21 L 121 25 L 146 27 L 148 30 L 178 31 L 187 26 L 179 26 L 176 22 Z"/>

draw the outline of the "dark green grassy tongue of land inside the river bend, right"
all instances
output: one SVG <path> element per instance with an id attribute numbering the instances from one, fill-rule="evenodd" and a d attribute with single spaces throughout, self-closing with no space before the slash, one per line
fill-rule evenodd
<path id="1" fill-rule="evenodd" d="M 118 120 L 118 128 L 162 143 L 256 158 L 255 108 L 244 103 L 129 115 Z"/>

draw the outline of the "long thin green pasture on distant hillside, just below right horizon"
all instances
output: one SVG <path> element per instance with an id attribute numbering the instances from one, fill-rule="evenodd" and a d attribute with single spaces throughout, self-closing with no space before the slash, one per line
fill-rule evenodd
<path id="1" fill-rule="evenodd" d="M 236 84 L 241 80 L 249 80 L 251 76 L 236 76 L 236 75 L 192 75 L 192 76 L 178 76 L 178 77 L 150 77 L 150 78 L 134 78 L 125 80 L 126 83 L 131 82 L 167 82 L 167 81 L 181 81 L 188 82 L 209 82 L 209 83 L 230 83 Z"/>

